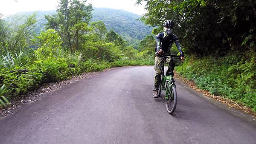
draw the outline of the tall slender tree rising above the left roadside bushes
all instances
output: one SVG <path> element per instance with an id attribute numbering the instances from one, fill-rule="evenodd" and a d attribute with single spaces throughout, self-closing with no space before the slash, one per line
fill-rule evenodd
<path id="1" fill-rule="evenodd" d="M 83 28 L 80 23 L 88 23 L 91 19 L 92 5 L 85 5 L 86 0 L 60 0 L 57 14 L 45 16 L 48 20 L 47 28 L 58 31 L 64 41 L 64 46 L 71 53 L 79 49 L 79 32 Z M 74 28 L 76 27 L 76 28 Z M 74 48 L 75 49 L 74 49 Z"/>

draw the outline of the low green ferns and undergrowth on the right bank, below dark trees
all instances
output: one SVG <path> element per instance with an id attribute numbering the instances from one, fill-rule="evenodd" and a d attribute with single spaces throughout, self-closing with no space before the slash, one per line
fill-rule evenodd
<path id="1" fill-rule="evenodd" d="M 185 67 L 183 69 L 183 67 Z M 183 66 L 177 67 L 179 73 L 195 80 L 199 88 L 211 94 L 225 96 L 256 110 L 256 55 L 228 54 L 216 58 L 203 59 L 191 56 Z"/>

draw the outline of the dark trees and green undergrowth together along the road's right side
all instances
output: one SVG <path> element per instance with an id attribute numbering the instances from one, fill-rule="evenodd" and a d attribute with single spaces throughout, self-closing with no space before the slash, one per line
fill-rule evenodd
<path id="1" fill-rule="evenodd" d="M 256 111 L 256 2 L 253 0 L 137 0 L 141 20 L 162 30 L 174 20 L 186 60 L 177 72 L 211 94 Z"/>

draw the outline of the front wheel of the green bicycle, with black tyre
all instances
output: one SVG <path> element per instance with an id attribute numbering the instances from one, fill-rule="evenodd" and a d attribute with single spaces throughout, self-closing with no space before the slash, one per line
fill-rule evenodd
<path id="1" fill-rule="evenodd" d="M 166 99 L 166 110 L 169 114 L 172 114 L 175 111 L 177 105 L 177 91 L 174 85 L 169 88 L 167 99 Z"/>

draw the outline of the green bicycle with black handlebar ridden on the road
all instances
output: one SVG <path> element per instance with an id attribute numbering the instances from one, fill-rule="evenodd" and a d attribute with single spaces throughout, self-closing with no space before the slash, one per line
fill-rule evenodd
<path id="1" fill-rule="evenodd" d="M 160 55 L 163 56 L 163 63 L 167 58 L 170 58 L 170 62 L 169 62 L 169 71 L 166 72 L 167 73 L 171 73 L 172 71 L 172 67 L 174 67 L 174 59 L 173 57 L 179 57 L 177 55 L 173 55 L 173 54 L 164 54 L 164 55 Z M 162 90 L 166 90 L 164 99 L 166 102 L 166 110 L 169 114 L 172 114 L 175 111 L 176 105 L 177 105 L 177 91 L 176 91 L 176 85 L 175 85 L 175 80 L 173 79 L 173 75 L 170 74 L 169 76 L 165 76 L 164 75 L 164 65 L 162 67 L 162 82 L 161 85 L 159 86 L 159 96 L 162 92 Z"/>

